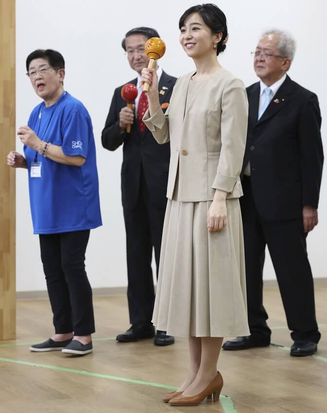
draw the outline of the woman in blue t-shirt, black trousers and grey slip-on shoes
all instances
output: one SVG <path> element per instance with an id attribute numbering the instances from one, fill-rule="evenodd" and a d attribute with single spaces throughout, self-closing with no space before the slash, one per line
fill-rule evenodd
<path id="1" fill-rule="evenodd" d="M 30 349 L 84 355 L 92 351 L 95 331 L 85 251 L 90 229 L 102 225 L 91 118 L 64 91 L 65 61 L 59 52 L 32 52 L 26 69 L 43 102 L 18 129 L 25 156 L 12 151 L 7 163 L 28 170 L 34 233 L 55 326 L 50 339 Z"/>

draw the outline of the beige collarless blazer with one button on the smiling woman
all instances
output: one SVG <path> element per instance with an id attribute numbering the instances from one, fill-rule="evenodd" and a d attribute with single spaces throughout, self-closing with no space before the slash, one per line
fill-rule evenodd
<path id="1" fill-rule="evenodd" d="M 159 108 L 150 117 L 147 110 L 143 118 L 158 143 L 170 140 L 167 198 L 173 197 L 178 171 L 179 201 L 210 201 L 215 189 L 227 192 L 227 198 L 239 198 L 248 121 L 245 86 L 219 69 L 201 82 L 186 109 L 193 75 L 177 80 L 165 114 Z"/>

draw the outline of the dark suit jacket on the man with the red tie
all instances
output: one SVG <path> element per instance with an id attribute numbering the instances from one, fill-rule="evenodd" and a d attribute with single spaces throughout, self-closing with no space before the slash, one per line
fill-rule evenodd
<path id="1" fill-rule="evenodd" d="M 169 103 L 176 80 L 163 71 L 159 81 L 159 91 L 164 91 L 164 94 L 159 94 L 161 104 Z M 137 79 L 128 83 L 136 85 Z M 130 133 L 121 133 L 119 113 L 126 106 L 126 102 L 121 97 L 122 87 L 119 86 L 114 91 L 101 141 L 102 146 L 109 151 L 114 151 L 124 143 L 121 172 L 123 206 L 127 209 L 136 206 L 142 166 L 151 204 L 158 208 L 165 208 L 170 158 L 169 143 L 159 145 L 147 128 L 142 135 L 136 116 Z"/>

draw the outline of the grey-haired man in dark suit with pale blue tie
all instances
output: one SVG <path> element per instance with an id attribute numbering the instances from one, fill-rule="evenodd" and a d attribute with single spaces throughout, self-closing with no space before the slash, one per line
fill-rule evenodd
<path id="1" fill-rule="evenodd" d="M 321 116 L 317 96 L 286 74 L 294 52 L 294 40 L 279 31 L 265 33 L 254 52 L 260 82 L 247 88 L 249 122 L 240 199 L 251 335 L 227 341 L 225 350 L 270 344 L 262 302 L 266 245 L 292 331 L 291 355 L 313 354 L 320 339 L 306 237 L 318 223 L 324 161 Z"/>

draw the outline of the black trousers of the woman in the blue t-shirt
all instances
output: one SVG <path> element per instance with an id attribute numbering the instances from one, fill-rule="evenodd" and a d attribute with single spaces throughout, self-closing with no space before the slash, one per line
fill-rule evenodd
<path id="1" fill-rule="evenodd" d="M 85 271 L 90 230 L 40 235 L 41 259 L 57 334 L 95 331 L 92 290 Z"/>

